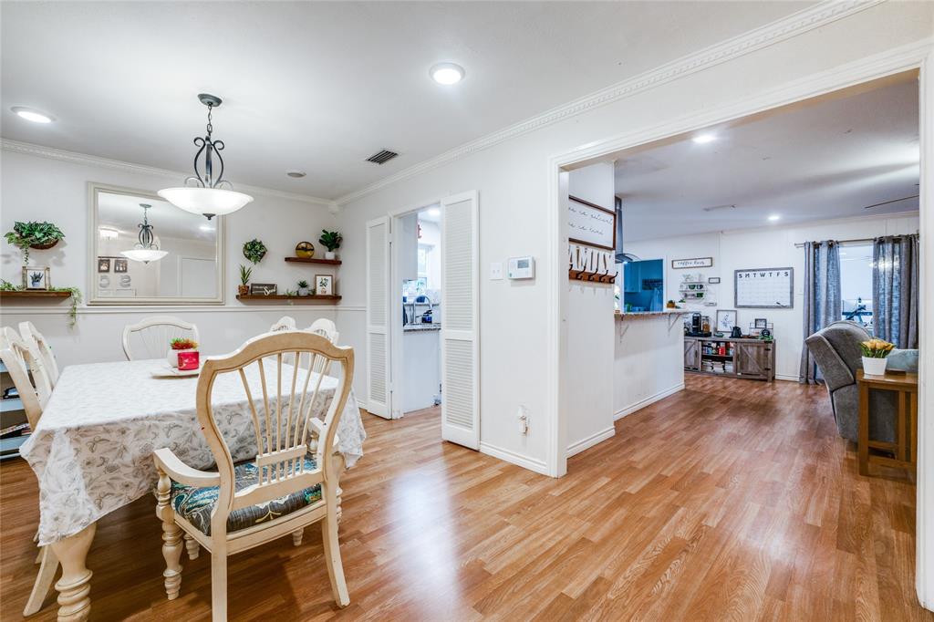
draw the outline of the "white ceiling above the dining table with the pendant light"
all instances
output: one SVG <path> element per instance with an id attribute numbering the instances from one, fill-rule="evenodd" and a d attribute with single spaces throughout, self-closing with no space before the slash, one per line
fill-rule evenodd
<path id="1" fill-rule="evenodd" d="M 189 171 L 211 92 L 226 177 L 333 199 L 808 4 L 5 2 L 0 134 Z"/>

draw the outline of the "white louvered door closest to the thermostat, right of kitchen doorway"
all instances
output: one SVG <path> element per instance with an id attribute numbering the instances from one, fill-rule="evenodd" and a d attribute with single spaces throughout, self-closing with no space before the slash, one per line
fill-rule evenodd
<path id="1" fill-rule="evenodd" d="M 441 202 L 441 435 L 480 447 L 479 244 L 476 192 Z"/>

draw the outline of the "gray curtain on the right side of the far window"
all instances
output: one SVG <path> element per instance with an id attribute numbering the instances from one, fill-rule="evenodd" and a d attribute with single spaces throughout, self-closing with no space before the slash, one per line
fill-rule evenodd
<path id="1" fill-rule="evenodd" d="M 918 236 L 886 235 L 872 245 L 872 325 L 879 339 L 918 346 Z"/>

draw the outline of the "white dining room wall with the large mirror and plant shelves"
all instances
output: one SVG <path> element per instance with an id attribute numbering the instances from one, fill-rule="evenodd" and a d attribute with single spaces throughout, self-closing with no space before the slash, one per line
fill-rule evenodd
<path id="1" fill-rule="evenodd" d="M 92 163 L 64 162 L 44 157 L 4 150 L 2 154 L 2 212 L 0 228 L 7 232 L 16 220 L 50 220 L 64 232 L 65 239 L 51 250 L 32 251 L 32 262 L 51 267 L 51 283 L 55 287 L 77 286 L 87 294 L 88 262 L 88 202 L 87 182 L 158 191 L 179 181 L 158 173 L 133 173 L 110 166 Z M 89 161 L 90 162 L 90 161 Z M 269 248 L 262 262 L 253 270 L 253 280 L 277 283 L 280 291 L 294 290 L 302 278 L 311 280 L 315 272 L 328 272 L 320 267 L 311 268 L 290 264 L 283 258 L 294 254 L 298 242 L 317 242 L 322 228 L 333 229 L 336 220 L 327 207 L 300 200 L 254 192 L 254 202 L 242 211 L 227 217 L 226 230 L 226 303 L 213 306 L 175 305 L 161 307 L 114 307 L 82 304 L 78 325 L 68 328 L 68 303 L 21 304 L 4 302 L 2 322 L 15 325 L 29 319 L 40 332 L 50 338 L 60 364 L 121 360 L 122 327 L 151 315 L 165 312 L 187 319 L 198 325 L 202 347 L 207 354 L 229 352 L 269 328 L 283 315 L 290 315 L 299 326 L 307 326 L 316 318 L 335 319 L 333 306 L 322 308 L 315 304 L 244 304 L 236 301 L 239 283 L 237 266 L 248 263 L 243 257 L 244 242 L 259 237 Z M 131 262 L 132 263 L 132 262 Z M 0 276 L 19 283 L 21 256 L 16 247 L 0 243 Z M 340 293 L 341 278 L 337 288 Z M 113 278 L 113 273 L 110 273 Z M 340 328 L 344 332 L 344 328 Z M 353 330 L 347 332 L 353 335 Z"/>

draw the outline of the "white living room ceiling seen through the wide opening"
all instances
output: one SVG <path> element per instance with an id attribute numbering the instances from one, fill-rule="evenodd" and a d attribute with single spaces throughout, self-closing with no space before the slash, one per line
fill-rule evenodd
<path id="1" fill-rule="evenodd" d="M 623 237 L 913 211 L 918 193 L 918 83 L 913 77 L 741 120 L 616 161 Z M 696 135 L 695 134 L 695 135 Z M 736 205 L 735 208 L 704 208 Z"/>

